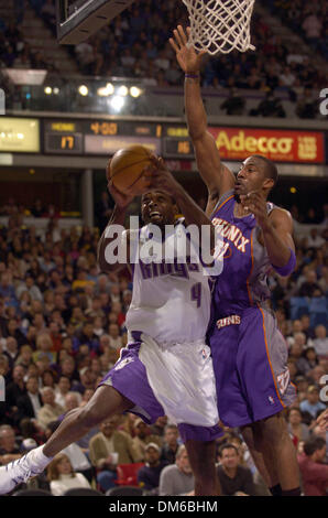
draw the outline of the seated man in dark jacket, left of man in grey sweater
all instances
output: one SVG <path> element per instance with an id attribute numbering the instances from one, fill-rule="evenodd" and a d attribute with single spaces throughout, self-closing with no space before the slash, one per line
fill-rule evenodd
<path id="1" fill-rule="evenodd" d="M 158 494 L 161 472 L 168 465 L 168 462 L 162 461 L 160 456 L 160 446 L 154 442 L 150 442 L 144 449 L 145 465 L 139 470 L 136 476 L 140 487 L 152 492 L 152 495 Z"/>

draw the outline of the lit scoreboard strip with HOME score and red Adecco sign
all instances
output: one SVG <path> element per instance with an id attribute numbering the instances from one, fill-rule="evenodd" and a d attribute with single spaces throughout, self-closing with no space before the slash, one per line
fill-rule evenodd
<path id="1" fill-rule="evenodd" d="M 325 132 L 209 127 L 222 159 L 263 154 L 276 162 L 325 163 Z M 142 144 L 168 160 L 194 160 L 185 125 L 95 119 L 0 118 L 0 152 L 108 157 Z"/>

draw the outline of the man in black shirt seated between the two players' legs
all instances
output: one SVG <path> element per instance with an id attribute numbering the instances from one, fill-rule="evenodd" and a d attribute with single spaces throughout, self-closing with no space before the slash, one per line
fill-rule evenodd
<path id="1" fill-rule="evenodd" d="M 240 455 L 233 444 L 222 444 L 219 450 L 219 462 L 217 473 L 222 495 L 255 496 L 252 472 L 240 464 Z"/>

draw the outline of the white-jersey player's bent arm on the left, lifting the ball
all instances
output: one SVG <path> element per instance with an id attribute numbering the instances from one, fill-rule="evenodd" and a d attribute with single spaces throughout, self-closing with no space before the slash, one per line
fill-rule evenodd
<path id="1" fill-rule="evenodd" d="M 108 258 L 106 257 L 106 248 L 111 241 L 119 238 L 118 234 L 114 234 L 111 230 L 113 230 L 113 225 L 117 225 L 118 229 L 119 227 L 122 228 L 124 226 L 127 208 L 132 202 L 132 199 L 134 198 L 133 195 L 120 193 L 111 182 L 108 182 L 108 190 L 116 202 L 116 206 L 113 208 L 111 218 L 100 237 L 100 240 L 98 242 L 98 249 L 97 249 L 98 266 L 101 271 L 106 271 L 106 272 L 118 271 L 123 266 L 122 263 L 118 261 L 112 262 L 112 263 L 108 261 Z M 123 239 L 123 235 L 121 234 L 121 242 L 122 245 L 124 244 L 127 245 L 127 263 L 128 263 L 128 258 L 130 257 L 130 231 L 129 230 L 124 231 L 124 238 L 125 239 Z"/>

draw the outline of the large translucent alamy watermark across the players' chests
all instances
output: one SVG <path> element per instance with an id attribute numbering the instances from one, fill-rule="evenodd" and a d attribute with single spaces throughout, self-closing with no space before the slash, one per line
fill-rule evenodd
<path id="1" fill-rule="evenodd" d="M 203 225 L 199 230 L 197 225 L 165 225 L 162 228 L 150 224 L 140 230 L 139 217 L 131 216 L 129 230 L 130 249 L 122 225 L 107 227 L 105 238 L 110 242 L 105 248 L 105 260 L 108 265 L 157 263 L 162 265 L 163 274 L 171 271 L 166 271 L 164 265 L 201 263 L 207 276 L 218 276 L 222 271 L 223 240 L 217 228 L 214 239 L 210 225 Z"/>

